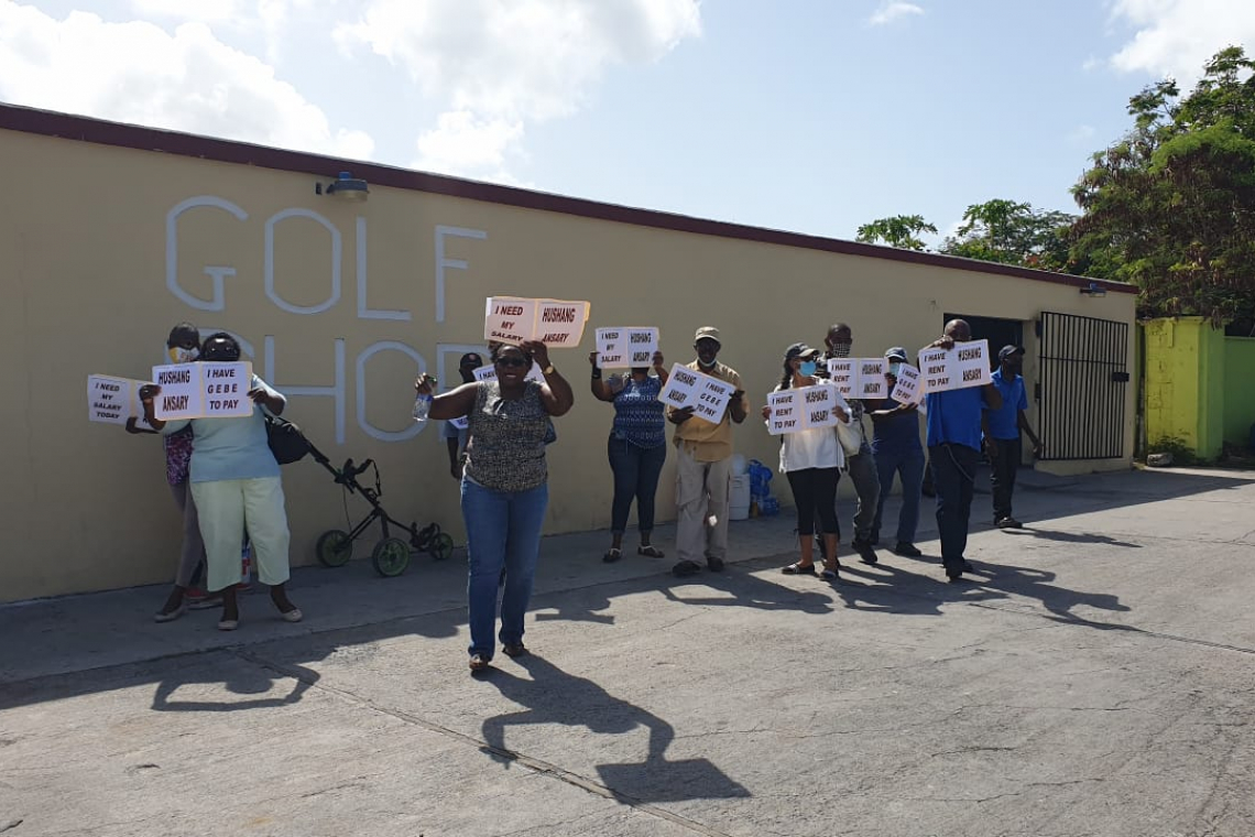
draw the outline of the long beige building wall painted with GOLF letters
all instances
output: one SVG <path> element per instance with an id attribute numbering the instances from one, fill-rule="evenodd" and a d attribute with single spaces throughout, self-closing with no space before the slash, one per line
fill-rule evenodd
<path id="1" fill-rule="evenodd" d="M 576 405 L 550 453 L 551 533 L 609 526 L 612 410 L 587 389 L 596 326 L 656 325 L 670 363 L 692 359 L 697 326 L 715 325 L 720 359 L 758 405 L 784 346 L 818 345 L 835 320 L 852 325 L 856 355 L 920 348 L 945 311 L 1022 320 L 1029 381 L 1040 311 L 1133 320 L 1131 295 L 1089 299 L 954 260 L 909 264 L 379 184 L 365 203 L 315 195 L 343 167 L 335 161 L 301 174 L 15 131 L 0 131 L 0 159 L 3 601 L 172 577 L 178 521 L 161 442 L 88 423 L 85 378 L 146 378 L 179 320 L 242 338 L 316 445 L 335 462 L 374 458 L 384 506 L 435 521 L 459 543 L 444 440 L 438 425 L 410 420 L 410 383 L 423 369 L 456 378 L 461 353 L 483 346 L 489 295 L 592 302 L 584 346 L 552 353 Z M 1130 359 L 1132 339 L 1131 329 Z M 1132 387 L 1126 424 L 1131 453 Z M 756 418 L 737 429 L 737 447 L 776 467 L 777 442 Z M 674 516 L 673 481 L 669 463 L 663 518 Z M 312 562 L 320 532 L 366 511 L 349 497 L 346 521 L 339 487 L 310 459 L 285 467 L 284 482 L 294 565 Z M 788 503 L 786 482 L 773 487 Z"/>

